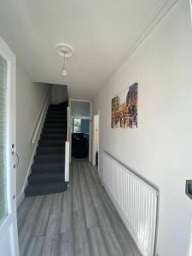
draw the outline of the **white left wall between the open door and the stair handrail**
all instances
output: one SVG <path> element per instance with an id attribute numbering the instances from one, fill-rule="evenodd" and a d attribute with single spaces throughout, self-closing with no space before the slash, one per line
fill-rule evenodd
<path id="1" fill-rule="evenodd" d="M 20 64 L 16 63 L 16 150 L 20 164 L 16 170 L 17 200 L 20 201 L 34 144 L 31 143 L 45 97 L 48 84 L 32 83 Z"/>

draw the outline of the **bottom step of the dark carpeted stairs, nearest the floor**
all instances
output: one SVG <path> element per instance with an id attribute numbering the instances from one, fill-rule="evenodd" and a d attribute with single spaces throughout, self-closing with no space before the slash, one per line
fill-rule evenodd
<path id="1" fill-rule="evenodd" d="M 65 182 L 34 183 L 27 185 L 25 189 L 25 195 L 48 195 L 53 193 L 64 192 L 65 190 L 67 190 L 67 183 Z"/>

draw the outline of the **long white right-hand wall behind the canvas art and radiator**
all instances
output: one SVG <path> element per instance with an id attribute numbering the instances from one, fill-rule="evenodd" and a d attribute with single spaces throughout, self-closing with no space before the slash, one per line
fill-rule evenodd
<path id="1" fill-rule="evenodd" d="M 111 99 L 138 82 L 138 129 L 111 129 Z M 192 201 L 192 30 L 189 1 L 161 20 L 93 101 L 100 110 L 100 170 L 107 150 L 160 190 L 156 252 L 185 256 Z"/>

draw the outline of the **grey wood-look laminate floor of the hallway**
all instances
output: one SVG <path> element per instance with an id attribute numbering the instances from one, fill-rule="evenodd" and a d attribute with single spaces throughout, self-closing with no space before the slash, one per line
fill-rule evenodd
<path id="1" fill-rule="evenodd" d="M 18 209 L 20 256 L 140 256 L 87 160 L 73 160 L 69 189 L 27 197 Z"/>

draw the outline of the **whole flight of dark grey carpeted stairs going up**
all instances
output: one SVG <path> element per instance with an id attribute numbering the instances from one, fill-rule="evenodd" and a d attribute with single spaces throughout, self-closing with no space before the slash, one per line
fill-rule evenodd
<path id="1" fill-rule="evenodd" d="M 67 103 L 50 105 L 28 177 L 26 196 L 46 195 L 67 189 L 64 181 Z"/>

